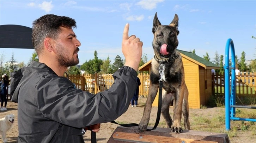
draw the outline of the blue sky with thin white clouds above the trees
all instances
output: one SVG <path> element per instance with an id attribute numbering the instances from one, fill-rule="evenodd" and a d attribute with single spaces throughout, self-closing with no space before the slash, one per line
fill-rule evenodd
<path id="1" fill-rule="evenodd" d="M 213 61 L 216 52 L 225 57 L 226 42 L 231 38 L 238 58 L 244 51 L 246 60 L 256 59 L 256 39 L 251 38 L 256 36 L 256 1 L 1 0 L 0 25 L 32 28 L 32 22 L 45 14 L 73 18 L 77 22 L 74 32 L 81 42 L 78 53 L 81 65 L 94 59 L 95 50 L 99 59 L 109 56 L 113 63 L 120 55 L 124 60 L 122 33 L 129 23 L 129 36 L 140 38 L 142 54 L 147 55 L 149 61 L 153 58 L 152 26 L 156 12 L 162 25 L 169 25 L 174 15 L 178 15 L 179 50 L 195 49 L 196 55 L 201 57 L 208 52 Z M 4 63 L 11 60 L 13 54 L 18 63 L 27 64 L 33 52 L 33 49 L 0 48 Z"/>

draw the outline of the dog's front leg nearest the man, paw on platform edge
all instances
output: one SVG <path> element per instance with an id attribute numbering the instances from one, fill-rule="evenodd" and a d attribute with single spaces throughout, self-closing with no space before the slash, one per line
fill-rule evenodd
<path id="1" fill-rule="evenodd" d="M 150 120 L 152 103 L 153 103 L 154 99 L 156 98 L 158 88 L 159 88 L 159 84 L 152 84 L 152 82 L 150 82 L 147 101 L 146 101 L 145 107 L 144 107 L 144 113 L 143 113 L 143 116 L 140 120 L 139 127 L 138 127 L 139 132 L 143 132 L 143 131 L 147 130 L 147 125 Z"/>

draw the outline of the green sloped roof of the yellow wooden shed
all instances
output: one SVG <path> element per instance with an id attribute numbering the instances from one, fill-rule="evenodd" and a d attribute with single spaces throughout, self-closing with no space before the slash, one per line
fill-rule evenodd
<path id="1" fill-rule="evenodd" d="M 178 51 L 181 53 L 181 56 L 183 58 L 188 59 L 191 62 L 194 62 L 206 69 L 220 69 L 220 67 L 217 64 L 207 61 L 196 54 L 193 54 L 193 53 L 187 52 L 187 51 L 183 51 L 183 50 L 178 50 Z M 143 64 L 142 66 L 140 66 L 139 71 L 149 70 L 149 68 L 151 66 L 151 62 L 152 62 L 152 59 L 149 60 L 148 62 L 146 62 L 145 64 Z"/>

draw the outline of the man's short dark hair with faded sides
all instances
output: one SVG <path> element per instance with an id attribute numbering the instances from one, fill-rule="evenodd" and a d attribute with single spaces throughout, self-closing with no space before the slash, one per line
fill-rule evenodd
<path id="1" fill-rule="evenodd" d="M 47 14 L 33 22 L 32 43 L 37 55 L 43 50 L 43 41 L 45 38 L 56 39 L 61 32 L 60 27 L 76 28 L 74 19 L 66 16 L 57 16 Z"/>

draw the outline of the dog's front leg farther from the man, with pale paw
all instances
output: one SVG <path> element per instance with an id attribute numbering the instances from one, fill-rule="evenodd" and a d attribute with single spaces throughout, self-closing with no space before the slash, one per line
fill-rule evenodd
<path id="1" fill-rule="evenodd" d="M 183 132 L 181 127 L 181 114 L 182 114 L 182 104 L 183 104 L 184 88 L 177 88 L 175 95 L 175 106 L 173 107 L 173 124 L 171 127 L 172 132 Z"/>

